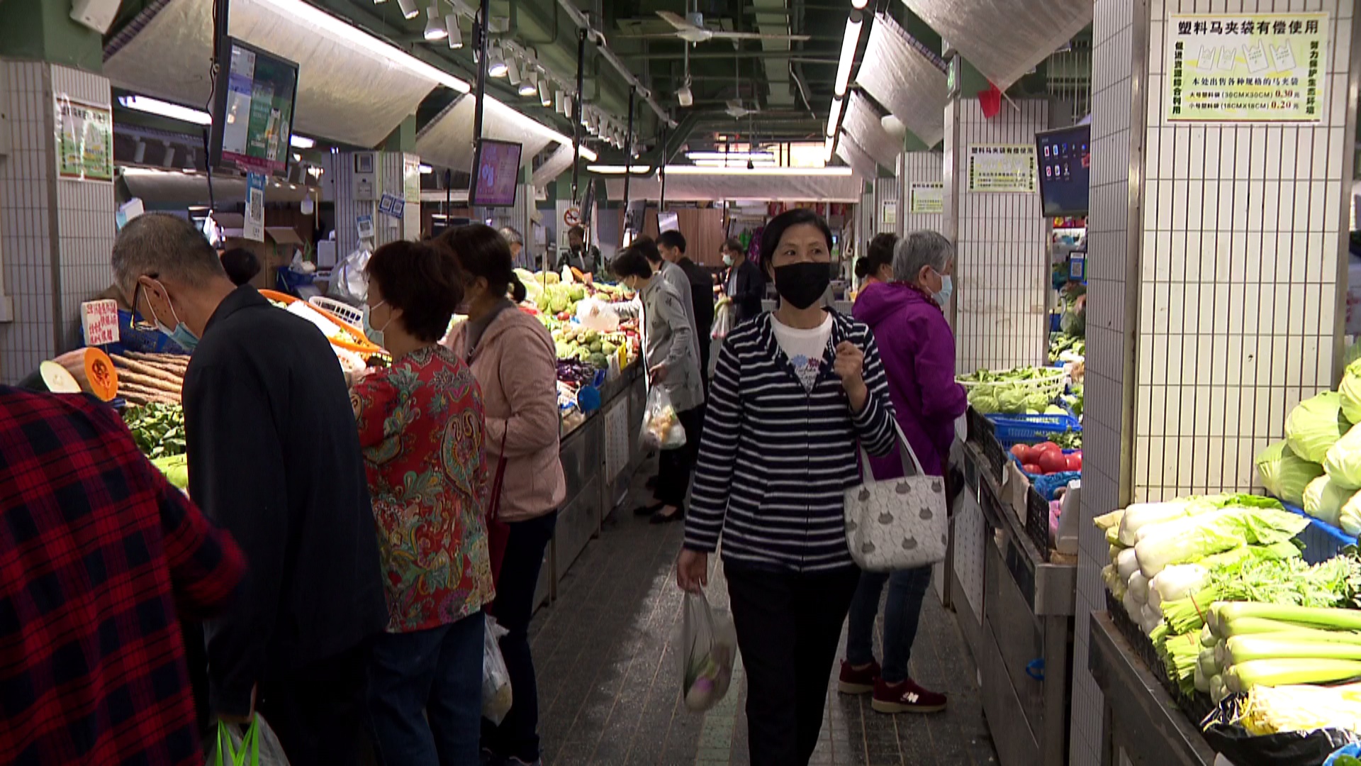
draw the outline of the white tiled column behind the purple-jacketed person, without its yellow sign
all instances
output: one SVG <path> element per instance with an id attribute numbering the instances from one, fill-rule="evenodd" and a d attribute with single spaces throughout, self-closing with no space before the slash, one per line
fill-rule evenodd
<path id="1" fill-rule="evenodd" d="M 943 230 L 954 234 L 955 367 L 1006 369 L 1043 364 L 1048 349 L 1048 256 L 1040 195 L 969 192 L 969 147 L 981 143 L 1034 146 L 1036 131 L 1049 127 L 1048 105 L 1004 102 L 991 120 L 977 98 L 946 106 Z"/>

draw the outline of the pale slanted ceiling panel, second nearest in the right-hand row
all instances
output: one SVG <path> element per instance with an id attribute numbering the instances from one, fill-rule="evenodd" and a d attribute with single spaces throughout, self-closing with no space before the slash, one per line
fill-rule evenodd
<path id="1" fill-rule="evenodd" d="M 885 14 L 874 18 L 856 85 L 921 143 L 935 146 L 945 138 L 945 63 Z"/>

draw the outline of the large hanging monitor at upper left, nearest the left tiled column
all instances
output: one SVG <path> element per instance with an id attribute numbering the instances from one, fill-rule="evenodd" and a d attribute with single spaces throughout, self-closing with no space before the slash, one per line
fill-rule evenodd
<path id="1" fill-rule="evenodd" d="M 297 95 L 298 64 L 227 38 L 212 104 L 212 165 L 286 176 Z"/>

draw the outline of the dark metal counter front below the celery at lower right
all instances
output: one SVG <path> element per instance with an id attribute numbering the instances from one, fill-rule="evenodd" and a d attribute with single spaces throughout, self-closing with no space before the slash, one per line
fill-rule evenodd
<path id="1" fill-rule="evenodd" d="M 1092 615 L 1087 668 L 1105 701 L 1102 765 L 1211 766 L 1214 751 L 1120 635 L 1111 615 Z"/>

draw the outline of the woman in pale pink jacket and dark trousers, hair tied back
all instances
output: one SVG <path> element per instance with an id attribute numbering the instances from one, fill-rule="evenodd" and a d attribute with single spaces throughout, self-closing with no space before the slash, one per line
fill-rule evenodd
<path id="1" fill-rule="evenodd" d="M 553 538 L 566 480 L 558 459 L 558 365 L 553 337 L 538 319 L 506 298 L 524 297 L 512 270 L 510 245 L 482 224 L 440 236 L 463 269 L 467 322 L 444 343 L 461 356 L 482 386 L 487 466 L 505 461 L 497 507 L 510 527 L 491 616 L 509 632 L 501 653 L 510 672 L 510 713 L 493 726 L 483 720 L 482 747 L 493 761 L 539 762 L 539 694 L 527 630 L 534 613 L 543 552 Z"/>

